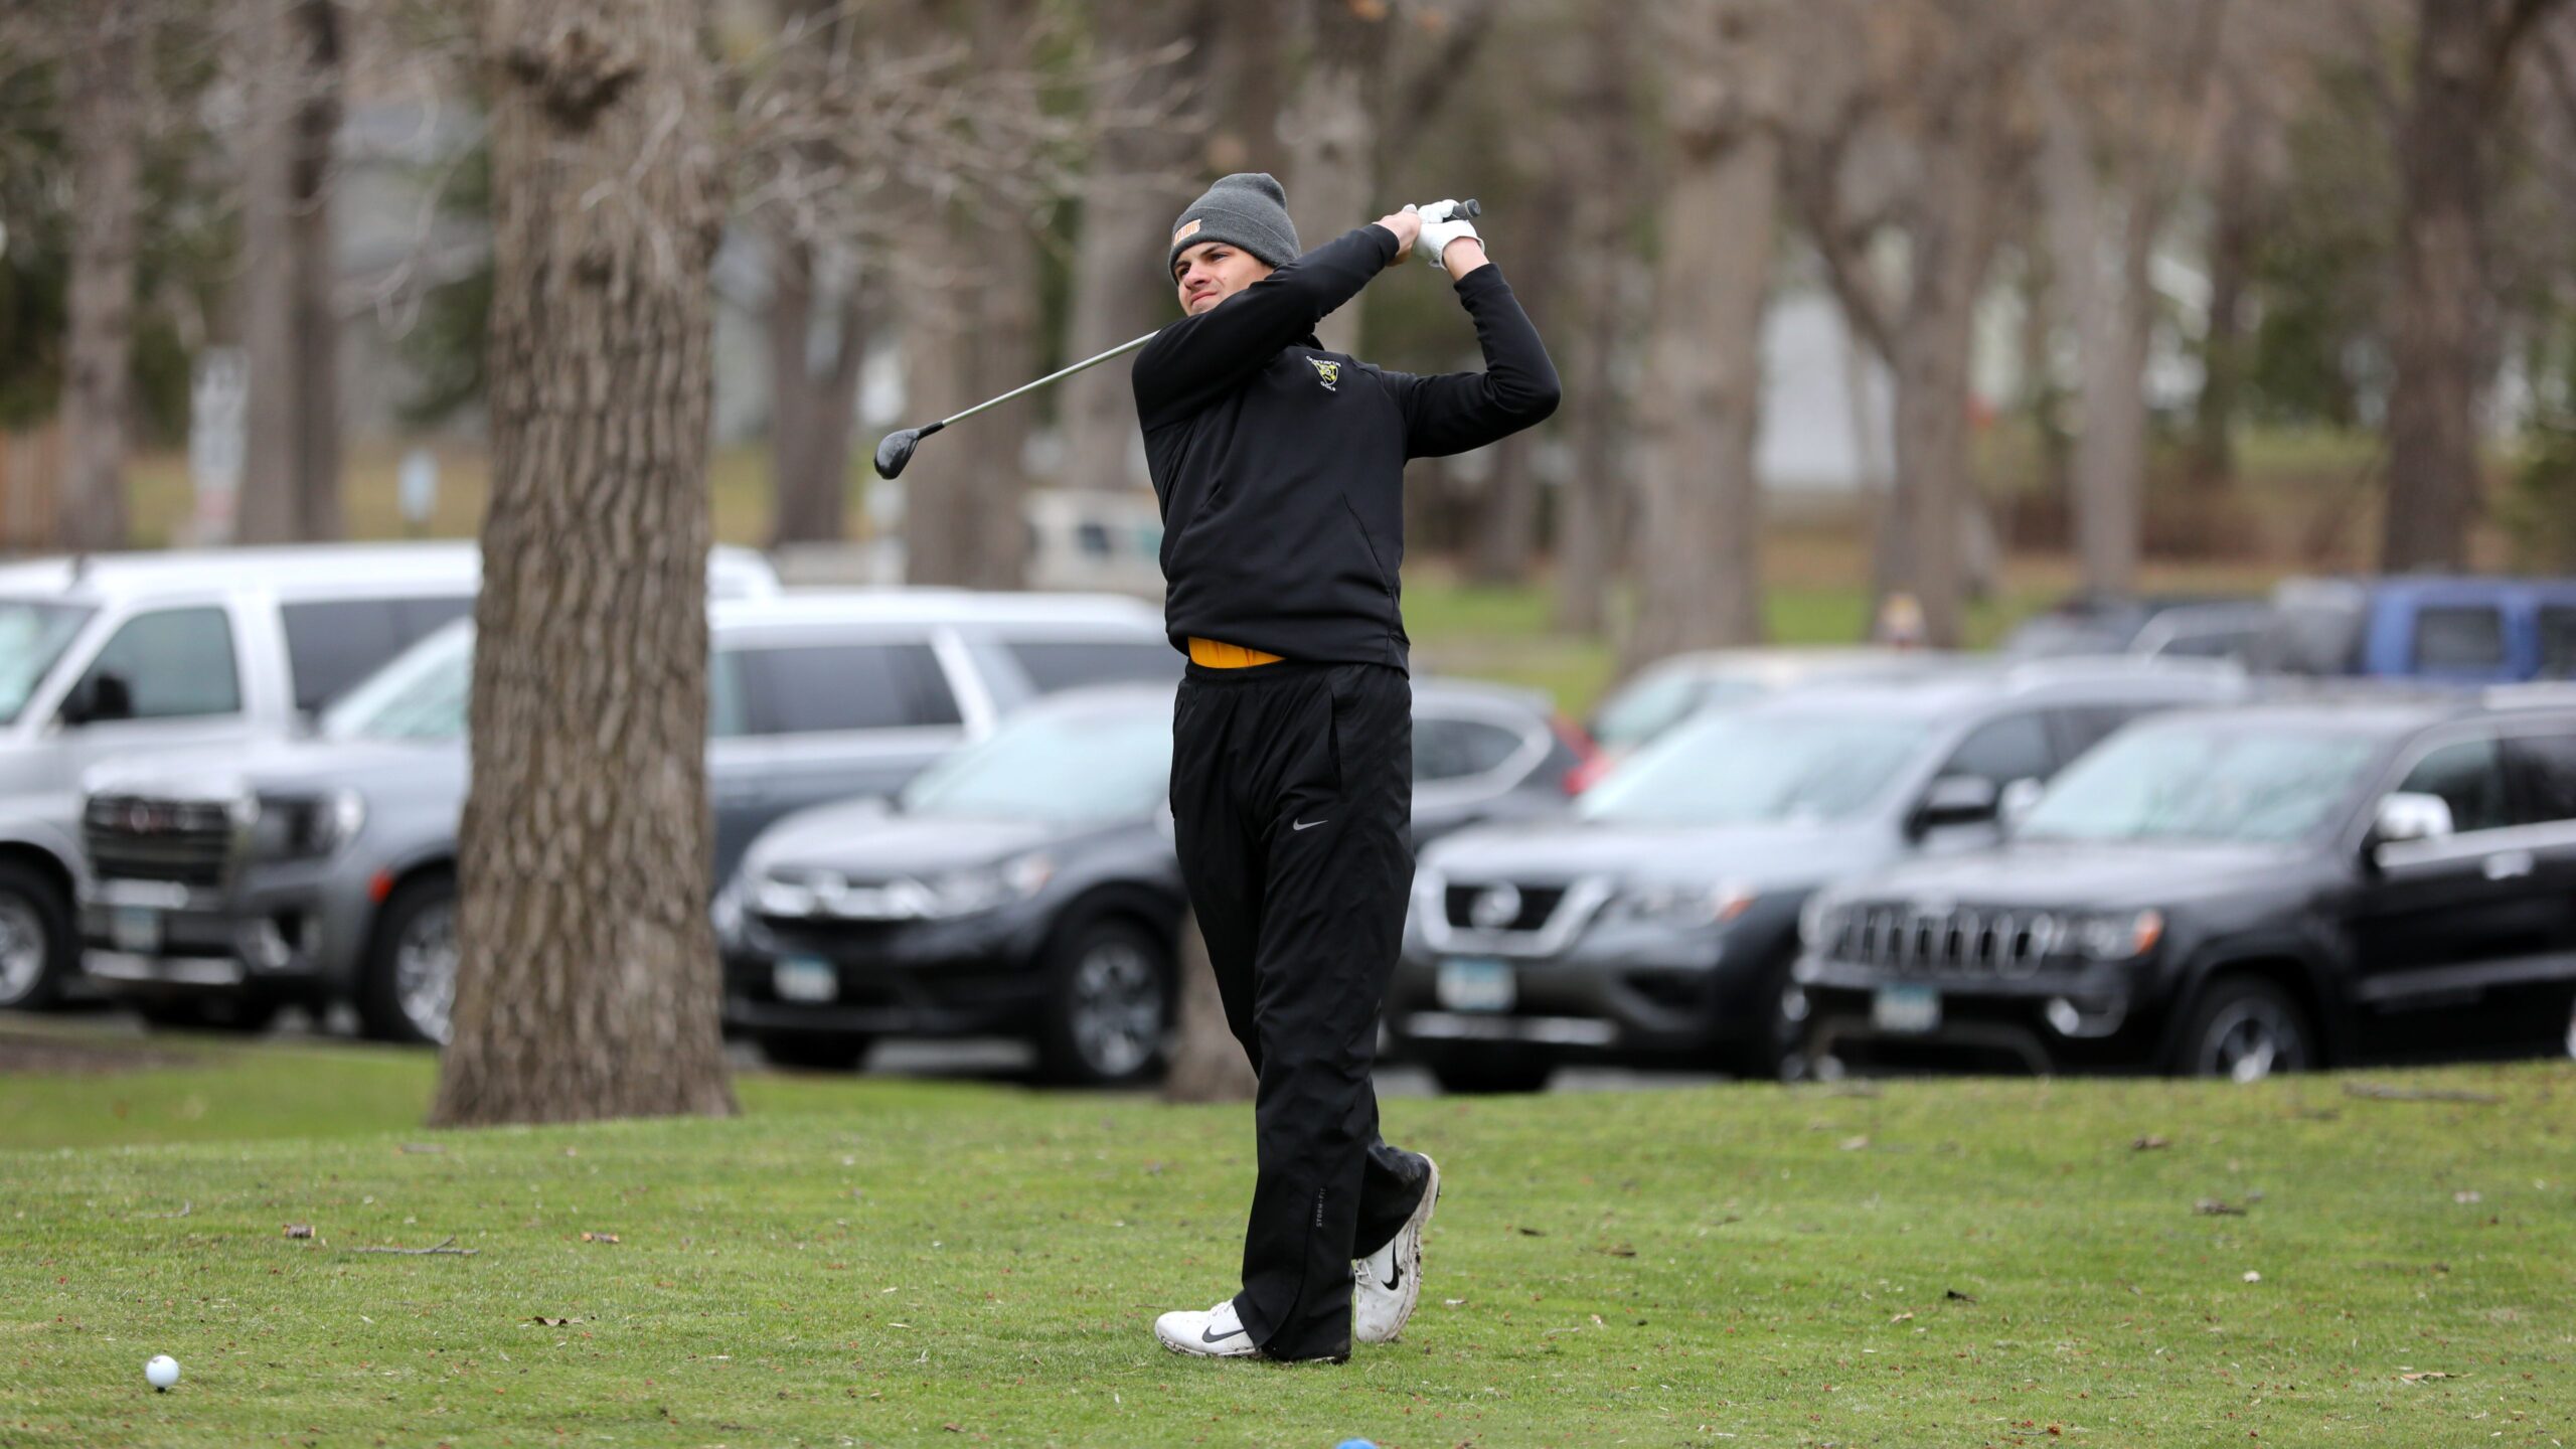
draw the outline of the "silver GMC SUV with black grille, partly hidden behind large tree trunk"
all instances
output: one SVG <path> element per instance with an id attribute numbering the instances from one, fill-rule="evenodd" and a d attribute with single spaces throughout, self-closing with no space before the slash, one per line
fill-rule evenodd
<path id="1" fill-rule="evenodd" d="M 1162 619 L 1126 598 L 799 593 L 708 619 L 716 879 L 770 820 L 899 789 L 1028 699 L 1180 676 Z M 90 975 L 155 1024 L 345 1000 L 374 1036 L 443 1039 L 471 650 L 469 624 L 433 634 L 307 740 L 100 768 Z"/>

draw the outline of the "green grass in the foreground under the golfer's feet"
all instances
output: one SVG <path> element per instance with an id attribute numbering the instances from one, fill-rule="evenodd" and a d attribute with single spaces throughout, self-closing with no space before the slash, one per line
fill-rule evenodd
<path id="1" fill-rule="evenodd" d="M 1234 1276 L 1244 1109 L 433 1134 L 420 1055 L 185 1049 L 0 1078 L 0 1444 L 2576 1441 L 2566 1062 L 1391 1101 L 1427 1294 L 1327 1369 L 1149 1338 Z"/>

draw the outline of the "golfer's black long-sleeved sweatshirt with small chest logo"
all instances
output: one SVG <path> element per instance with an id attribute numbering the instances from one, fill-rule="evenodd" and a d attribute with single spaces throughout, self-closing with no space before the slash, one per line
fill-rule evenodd
<path id="1" fill-rule="evenodd" d="M 1406 668 L 1404 462 L 1556 413 L 1556 369 L 1492 263 L 1458 278 L 1486 371 L 1414 376 L 1327 353 L 1314 325 L 1396 258 L 1368 224 L 1136 353 L 1162 503 L 1164 629 L 1303 663 Z"/>

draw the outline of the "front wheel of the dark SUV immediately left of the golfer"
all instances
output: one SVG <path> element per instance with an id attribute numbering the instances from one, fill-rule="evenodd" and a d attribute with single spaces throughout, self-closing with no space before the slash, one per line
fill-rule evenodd
<path id="1" fill-rule="evenodd" d="M 1162 1075 L 1177 1006 L 1172 944 L 1126 915 L 1092 915 L 1046 949 L 1038 1073 L 1066 1085 Z"/>

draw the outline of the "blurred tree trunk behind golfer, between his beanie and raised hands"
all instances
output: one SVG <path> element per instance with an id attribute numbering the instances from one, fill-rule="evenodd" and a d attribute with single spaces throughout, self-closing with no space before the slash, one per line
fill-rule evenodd
<path id="1" fill-rule="evenodd" d="M 1383 5 L 1311 0 L 1314 54 L 1280 119 L 1288 152 L 1288 214 L 1303 248 L 1319 248 L 1383 217 L 1376 204 L 1378 113 L 1386 101 L 1386 46 L 1394 39 Z M 1363 291 L 1316 327 L 1324 351 L 1360 351 Z"/>

